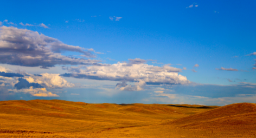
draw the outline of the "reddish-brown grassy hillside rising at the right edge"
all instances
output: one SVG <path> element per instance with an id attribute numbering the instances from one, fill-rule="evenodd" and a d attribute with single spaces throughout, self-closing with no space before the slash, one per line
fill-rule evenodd
<path id="1" fill-rule="evenodd" d="M 145 129 L 167 137 L 256 137 L 255 128 L 256 104 L 235 103 Z"/>

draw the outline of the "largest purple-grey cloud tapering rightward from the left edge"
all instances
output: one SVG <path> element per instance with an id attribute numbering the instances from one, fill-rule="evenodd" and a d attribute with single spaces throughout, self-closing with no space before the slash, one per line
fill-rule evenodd
<path id="1" fill-rule="evenodd" d="M 98 60 L 73 58 L 61 55 L 64 51 L 80 52 L 95 57 L 79 46 L 68 45 L 36 31 L 14 27 L 0 27 L 0 63 L 42 68 L 56 64 L 97 64 Z"/>

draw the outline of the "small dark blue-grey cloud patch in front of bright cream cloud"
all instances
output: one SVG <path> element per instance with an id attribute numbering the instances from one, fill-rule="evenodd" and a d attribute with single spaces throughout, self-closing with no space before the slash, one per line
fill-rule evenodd
<path id="1" fill-rule="evenodd" d="M 18 78 L 18 83 L 15 84 L 15 86 L 17 90 L 20 89 L 24 89 L 24 88 L 43 88 L 40 84 L 38 83 L 29 83 L 27 80 L 25 80 L 24 78 Z"/>

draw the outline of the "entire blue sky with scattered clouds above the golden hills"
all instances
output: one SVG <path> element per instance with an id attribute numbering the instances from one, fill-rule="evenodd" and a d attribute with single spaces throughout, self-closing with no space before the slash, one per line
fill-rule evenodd
<path id="1" fill-rule="evenodd" d="M 256 101 L 255 1 L 3 1 L 0 100 Z"/>

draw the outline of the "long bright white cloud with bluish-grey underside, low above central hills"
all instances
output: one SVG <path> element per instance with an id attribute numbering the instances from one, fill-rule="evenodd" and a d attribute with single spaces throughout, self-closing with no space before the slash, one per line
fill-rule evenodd
<path id="1" fill-rule="evenodd" d="M 135 62 L 109 64 L 105 66 L 92 65 L 79 69 L 79 73 L 62 74 L 65 77 L 87 78 L 92 80 L 121 81 L 117 83 L 119 90 L 142 90 L 146 84 L 188 84 L 187 77 L 178 74 L 182 69 L 164 65 L 157 67 Z M 126 82 L 135 82 L 127 85 Z"/>

